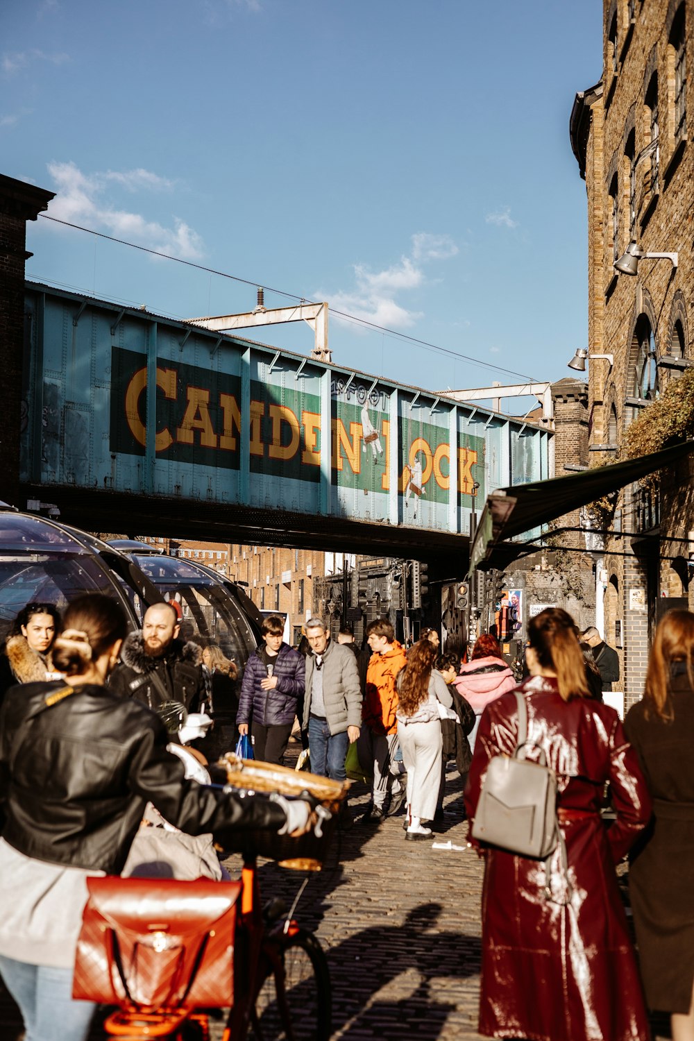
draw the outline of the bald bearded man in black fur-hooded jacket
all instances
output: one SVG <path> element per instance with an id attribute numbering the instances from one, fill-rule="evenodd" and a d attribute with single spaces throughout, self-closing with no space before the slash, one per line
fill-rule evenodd
<path id="1" fill-rule="evenodd" d="M 153 709 L 176 739 L 188 712 L 201 712 L 205 701 L 202 652 L 179 639 L 178 613 L 171 604 L 153 604 L 142 631 L 130 633 L 121 650 L 121 664 L 108 686 L 125 697 L 136 697 Z"/>

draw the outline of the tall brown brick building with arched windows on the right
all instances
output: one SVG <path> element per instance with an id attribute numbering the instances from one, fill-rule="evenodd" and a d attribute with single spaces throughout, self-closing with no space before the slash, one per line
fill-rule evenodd
<path id="1" fill-rule="evenodd" d="M 623 454 L 628 426 L 693 362 L 694 5 L 606 0 L 600 81 L 576 95 L 571 146 L 588 196 L 591 462 Z M 631 246 L 629 244 L 635 244 Z M 615 269 L 627 247 L 636 274 Z M 647 253 L 676 253 L 641 257 Z M 597 357 L 591 357 L 597 355 Z M 651 412 L 652 414 L 652 412 Z M 691 457 L 690 457 L 691 458 Z M 628 706 L 643 690 L 653 626 L 690 603 L 691 462 L 661 490 L 631 485 L 603 503 L 605 638 Z"/>

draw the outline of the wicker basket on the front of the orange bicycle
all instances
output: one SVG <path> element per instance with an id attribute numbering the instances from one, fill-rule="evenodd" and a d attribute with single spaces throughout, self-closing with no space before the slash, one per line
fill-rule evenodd
<path id="1" fill-rule="evenodd" d="M 238 832 L 238 840 L 232 846 L 235 853 L 248 853 L 277 860 L 281 867 L 300 871 L 319 871 L 328 855 L 330 842 L 337 826 L 340 805 L 346 798 L 350 781 L 331 781 L 329 778 L 287 769 L 275 763 L 263 763 L 255 759 L 239 759 L 228 754 L 223 759 L 227 783 L 232 788 L 250 792 L 277 792 L 280 795 L 299 796 L 308 791 L 322 806 L 330 810 L 331 817 L 323 822 L 323 836 L 312 832 L 290 838 L 278 835 L 267 829 Z"/>

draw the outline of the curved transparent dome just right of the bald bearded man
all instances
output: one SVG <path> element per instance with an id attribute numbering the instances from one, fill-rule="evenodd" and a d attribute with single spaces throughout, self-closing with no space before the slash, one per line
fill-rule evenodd
<path id="1" fill-rule="evenodd" d="M 223 654 L 236 662 L 240 677 L 256 640 L 232 592 L 213 575 L 184 560 L 139 553 L 133 556 L 164 600 L 180 604 L 181 638 L 204 636 L 219 643 Z"/>

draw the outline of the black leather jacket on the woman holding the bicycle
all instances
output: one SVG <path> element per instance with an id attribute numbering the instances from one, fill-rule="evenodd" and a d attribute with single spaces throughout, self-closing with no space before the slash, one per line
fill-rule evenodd
<path id="1" fill-rule="evenodd" d="M 119 873 L 148 801 L 182 831 L 223 844 L 238 829 L 285 822 L 276 803 L 185 781 L 164 727 L 139 702 L 84 684 L 47 706 L 66 689 L 10 687 L 0 710 L 2 837 L 25 856 Z"/>

